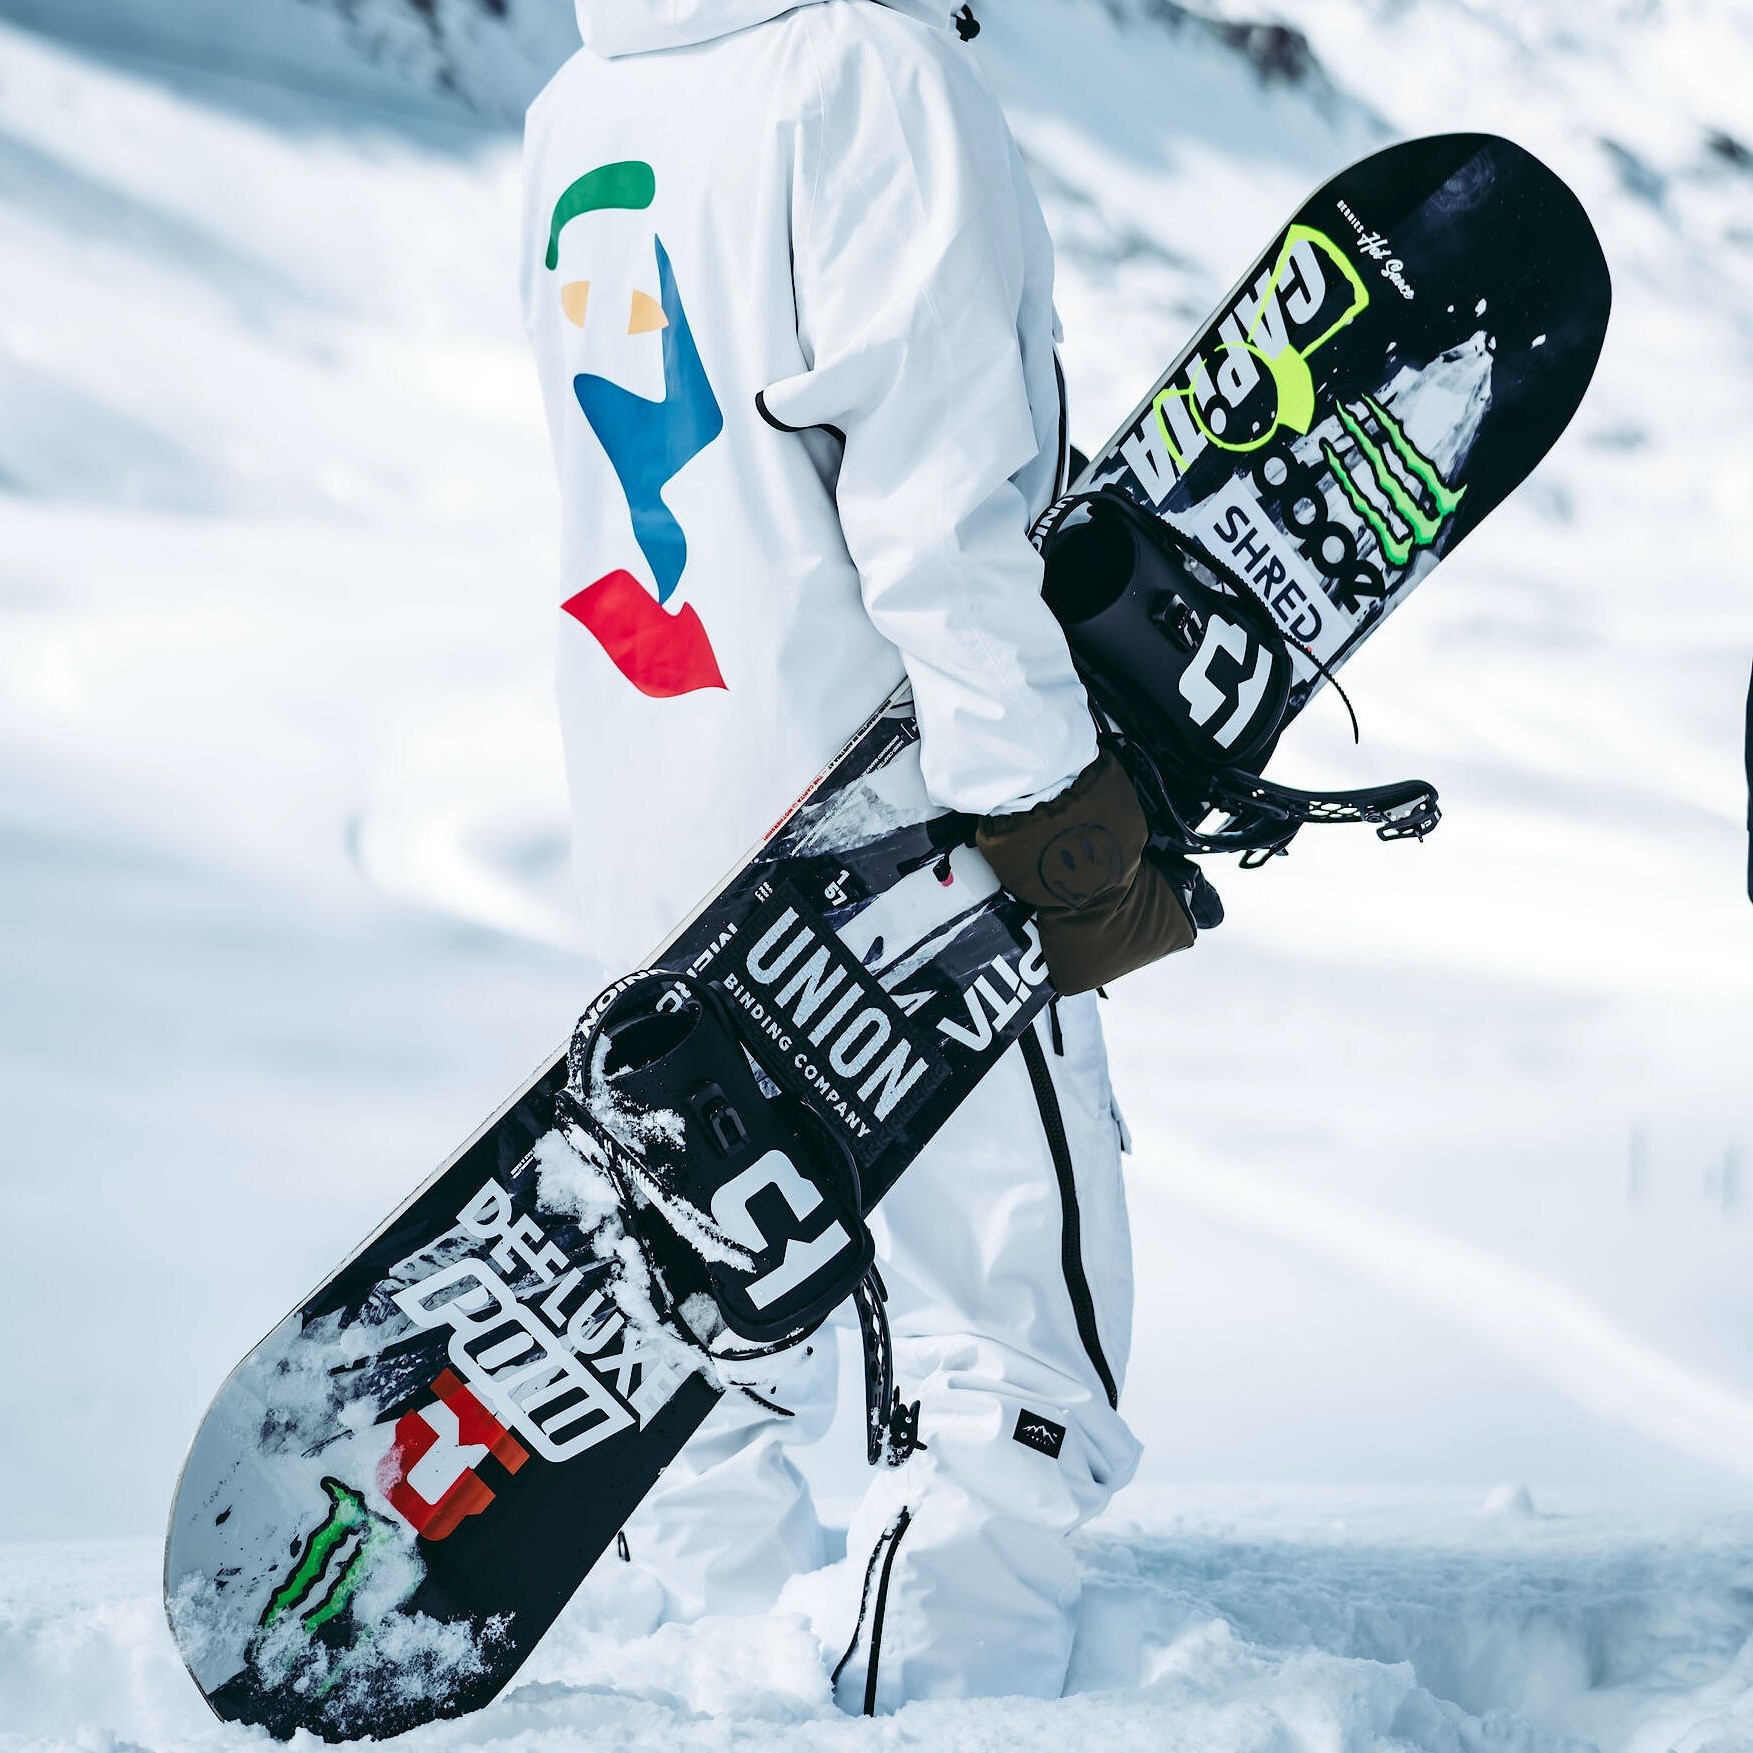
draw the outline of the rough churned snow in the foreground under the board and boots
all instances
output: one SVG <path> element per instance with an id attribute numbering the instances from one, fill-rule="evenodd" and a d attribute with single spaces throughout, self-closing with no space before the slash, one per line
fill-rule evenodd
<path id="1" fill-rule="evenodd" d="M 913 1704 L 878 1723 L 829 1697 L 829 1634 L 812 1623 L 826 1574 L 771 1616 L 650 1632 L 636 1564 L 608 1564 L 512 1692 L 405 1744 L 1735 1753 L 1753 1744 L 1749 1543 L 1744 1508 L 1136 1488 L 1080 1537 L 1069 1697 Z M 0 1548 L 4 1753 L 265 1744 L 188 1686 L 156 1558 L 149 1541 Z"/>

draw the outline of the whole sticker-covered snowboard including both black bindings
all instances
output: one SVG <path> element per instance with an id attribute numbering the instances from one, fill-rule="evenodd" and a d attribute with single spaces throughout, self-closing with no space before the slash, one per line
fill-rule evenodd
<path id="1" fill-rule="evenodd" d="M 1048 600 L 1201 924 L 1189 854 L 1434 826 L 1416 780 L 1262 770 L 1551 447 L 1608 307 L 1537 160 L 1388 147 L 1309 198 L 1043 519 Z M 901 687 L 224 1383 L 165 1560 L 212 1707 L 328 1739 L 479 1709 L 738 1369 L 848 1297 L 871 1458 L 905 1455 L 864 1218 L 1050 996 L 971 824 L 926 798 Z"/>

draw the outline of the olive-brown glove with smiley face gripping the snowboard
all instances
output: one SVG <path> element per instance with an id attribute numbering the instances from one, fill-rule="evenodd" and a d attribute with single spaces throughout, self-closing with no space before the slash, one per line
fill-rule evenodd
<path id="1" fill-rule="evenodd" d="M 1180 894 L 1145 852 L 1148 840 L 1138 792 L 1106 750 L 1057 798 L 980 822 L 975 845 L 1034 908 L 1047 971 L 1066 996 L 1194 941 Z"/>

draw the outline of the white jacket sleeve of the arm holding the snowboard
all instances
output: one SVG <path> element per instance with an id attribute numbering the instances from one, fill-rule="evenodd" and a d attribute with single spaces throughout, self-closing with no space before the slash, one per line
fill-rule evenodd
<path id="1" fill-rule="evenodd" d="M 1052 309 L 1026 275 L 1033 196 L 997 105 L 931 35 L 817 56 L 831 72 L 792 238 L 810 365 L 761 410 L 841 438 L 840 521 L 913 682 L 926 787 L 989 815 L 1062 791 L 1096 735 L 1027 535 L 1024 480 L 1050 491 L 1040 465 L 1057 463 L 1061 429 L 1055 391 L 1054 407 L 1029 400 L 1031 365 L 1055 382 Z"/>

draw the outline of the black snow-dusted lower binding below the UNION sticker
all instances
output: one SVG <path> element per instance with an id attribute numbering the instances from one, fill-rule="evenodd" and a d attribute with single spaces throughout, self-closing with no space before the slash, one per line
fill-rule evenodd
<path id="1" fill-rule="evenodd" d="M 854 1301 L 868 1457 L 905 1460 L 919 1446 L 917 1408 L 894 1388 L 857 1162 L 826 1118 L 764 1075 L 719 989 L 663 971 L 624 982 L 573 1040 L 566 1103 L 607 1146 L 670 1317 L 715 1364 L 799 1345 Z M 710 1345 L 689 1324 L 673 1285 L 701 1269 L 724 1325 L 749 1345 Z"/>

